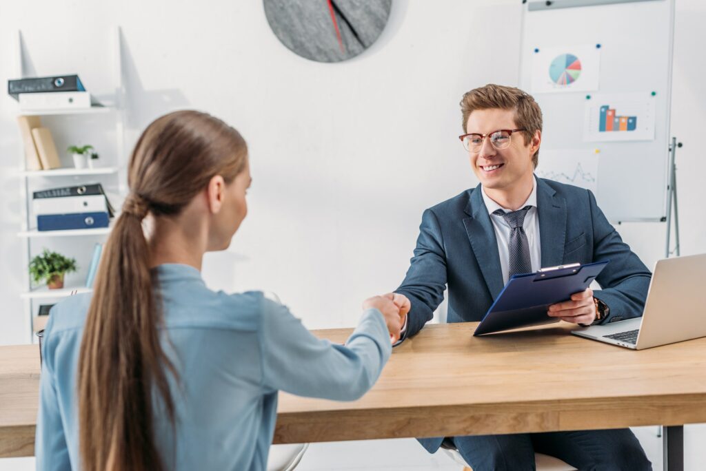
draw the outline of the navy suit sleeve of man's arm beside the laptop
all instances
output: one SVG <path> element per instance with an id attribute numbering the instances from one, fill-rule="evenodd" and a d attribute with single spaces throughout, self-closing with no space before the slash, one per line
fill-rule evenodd
<path id="1" fill-rule="evenodd" d="M 602 290 L 594 293 L 595 298 L 610 308 L 608 317 L 601 323 L 640 317 L 652 274 L 608 222 L 593 193 L 589 191 L 588 195 L 593 221 L 593 259 L 610 260 L 596 280 Z"/>

